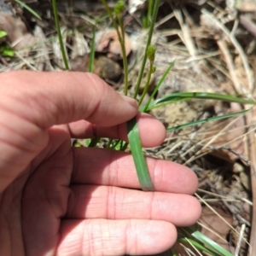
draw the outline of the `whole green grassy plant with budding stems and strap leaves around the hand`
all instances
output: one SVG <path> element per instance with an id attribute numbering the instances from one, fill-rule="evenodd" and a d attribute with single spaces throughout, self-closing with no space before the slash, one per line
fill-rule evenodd
<path id="1" fill-rule="evenodd" d="M 125 57 L 125 28 L 124 24 L 122 22 L 122 15 L 125 9 L 125 4 L 123 1 L 119 1 L 114 9 L 110 9 L 108 7 L 108 3 L 105 0 L 101 0 L 102 4 L 104 5 L 105 9 L 108 12 L 108 16 L 113 22 L 113 26 L 116 29 L 118 36 L 119 36 L 119 43 L 121 45 L 122 49 L 122 55 L 123 55 L 123 61 L 124 61 L 124 73 L 125 73 L 125 91 L 124 94 L 127 95 L 127 90 L 128 90 L 128 84 L 127 84 L 127 78 L 128 78 L 128 61 L 127 58 Z M 55 1 L 54 1 L 55 2 Z M 154 4 L 153 4 L 154 3 Z M 147 81 L 145 84 L 145 89 L 143 90 L 143 95 L 139 97 L 138 102 L 141 105 L 143 102 L 143 98 L 145 94 L 148 91 L 148 84 L 150 81 L 150 77 L 152 73 L 155 71 L 154 67 L 154 54 L 155 54 L 155 48 L 153 45 L 151 45 L 151 38 L 154 32 L 154 23 L 156 20 L 156 16 L 158 13 L 158 7 L 159 7 L 159 0 L 156 1 L 149 1 L 148 3 L 148 16 L 146 21 L 146 27 L 149 26 L 148 28 L 148 41 L 146 44 L 145 52 L 143 55 L 143 61 L 142 61 L 142 66 L 140 69 L 140 73 L 138 75 L 137 79 L 137 84 L 136 84 L 136 90 L 133 95 L 134 98 L 137 99 L 138 97 L 138 90 L 141 86 L 142 79 L 143 79 L 143 73 L 145 69 L 146 62 L 149 61 L 149 71 L 148 71 L 148 77 Z M 55 15 L 56 15 L 56 9 L 55 9 Z M 59 26 L 58 23 L 56 22 L 56 26 Z M 96 27 L 96 26 L 95 26 Z M 95 30 L 94 30 L 94 37 L 95 38 Z M 59 37 L 60 38 L 60 37 Z M 94 58 L 94 39 L 92 43 L 92 48 L 91 48 L 91 55 L 90 55 L 90 72 L 92 72 L 93 68 L 93 58 Z M 63 55 L 65 54 L 65 50 L 63 50 Z M 64 59 L 64 57 L 63 57 Z M 145 104 L 145 106 L 140 106 L 139 110 L 141 112 L 148 112 L 151 109 L 154 108 L 160 108 L 163 106 L 170 105 L 175 102 L 181 102 L 181 101 L 190 101 L 194 99 L 214 99 L 214 100 L 219 100 L 219 101 L 224 101 L 224 102 L 238 102 L 238 103 L 244 103 L 244 104 L 250 104 L 250 105 L 256 105 L 256 102 L 252 100 L 247 100 L 243 99 L 239 96 L 230 96 L 230 95 L 221 95 L 221 94 L 214 94 L 214 93 L 205 93 L 205 92 L 184 92 L 184 93 L 173 93 L 167 96 L 163 96 L 160 99 L 157 99 L 152 102 L 157 90 L 159 90 L 161 84 L 163 83 L 164 79 L 166 78 L 166 75 L 170 72 L 174 65 L 174 61 L 170 64 L 170 66 L 166 69 L 166 72 L 163 74 L 162 78 L 160 79 L 160 82 L 157 84 L 156 88 L 154 89 L 154 92 L 152 95 L 149 97 L 148 102 Z M 193 122 L 189 122 L 187 124 L 183 125 L 178 125 L 174 127 L 168 127 L 166 131 L 177 131 L 189 126 L 193 125 L 200 125 L 206 122 L 210 122 L 213 120 L 217 119 L 227 119 L 230 117 L 234 117 L 236 115 L 241 115 L 247 113 L 250 109 L 246 109 L 241 112 L 237 113 L 230 113 L 230 114 L 225 114 L 217 117 L 212 117 L 208 119 L 201 119 L 201 120 L 196 120 Z M 143 148 L 142 144 L 140 142 L 140 137 L 138 133 L 138 128 L 137 128 L 137 120 L 136 119 L 131 119 L 128 124 L 128 139 L 130 143 L 130 148 L 131 148 L 131 154 L 133 156 L 133 160 L 137 169 L 137 177 L 139 179 L 139 182 L 141 184 L 141 188 L 143 190 L 154 190 L 154 185 L 151 181 L 151 178 L 148 173 L 148 167 L 144 159 L 143 155 Z M 99 142 L 100 138 L 96 138 L 94 140 L 90 141 L 90 147 L 96 147 L 97 143 Z M 125 150 L 127 148 L 128 143 L 123 143 L 122 141 L 113 141 L 109 140 L 108 142 L 108 148 L 114 148 L 116 150 Z M 199 250 L 201 252 L 208 253 L 209 255 L 224 255 L 224 256 L 230 256 L 231 253 L 227 252 L 223 247 L 220 247 L 217 243 L 209 239 L 207 236 L 203 235 L 199 230 L 197 230 L 195 227 L 191 228 L 181 228 L 178 229 L 178 240 L 183 242 L 183 244 L 190 244 L 193 247 L 195 247 L 196 250 Z M 175 255 L 174 252 L 171 252 L 172 255 Z"/>

